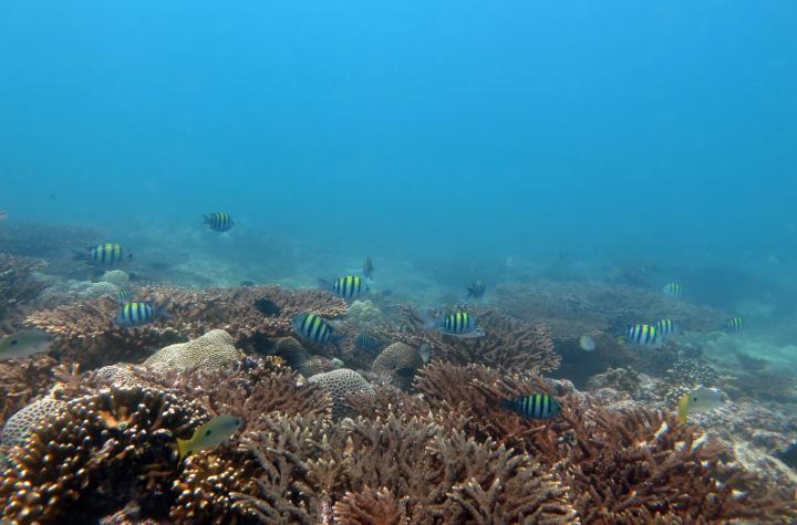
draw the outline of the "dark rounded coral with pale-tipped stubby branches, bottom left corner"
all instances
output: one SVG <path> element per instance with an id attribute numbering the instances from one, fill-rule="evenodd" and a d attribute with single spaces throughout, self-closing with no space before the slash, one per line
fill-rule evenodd
<path id="1" fill-rule="evenodd" d="M 175 438 L 208 418 L 164 390 L 113 388 L 69 401 L 12 449 L 0 475 L 3 522 L 86 523 L 130 500 L 155 504 L 177 468 Z"/>

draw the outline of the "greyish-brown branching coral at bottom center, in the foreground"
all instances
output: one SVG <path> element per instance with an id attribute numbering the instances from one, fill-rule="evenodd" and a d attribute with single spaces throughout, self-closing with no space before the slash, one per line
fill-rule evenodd
<path id="1" fill-rule="evenodd" d="M 330 506 L 362 515 L 372 486 L 384 487 L 379 501 L 387 515 L 410 523 L 566 523 L 575 515 L 531 458 L 433 420 L 329 426 L 281 418 L 271 426 L 245 442 L 263 472 L 258 493 L 232 494 L 241 512 L 261 521 L 318 523 Z"/>

